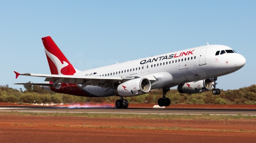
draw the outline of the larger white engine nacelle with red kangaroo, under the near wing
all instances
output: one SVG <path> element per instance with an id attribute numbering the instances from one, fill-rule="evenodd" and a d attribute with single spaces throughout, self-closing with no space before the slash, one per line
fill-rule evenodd
<path id="1" fill-rule="evenodd" d="M 147 78 L 136 78 L 119 84 L 114 93 L 117 96 L 138 96 L 149 92 L 151 83 Z"/>

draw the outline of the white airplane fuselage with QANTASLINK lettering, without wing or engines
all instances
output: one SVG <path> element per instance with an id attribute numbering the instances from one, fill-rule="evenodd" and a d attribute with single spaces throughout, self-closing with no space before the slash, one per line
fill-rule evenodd
<path id="1" fill-rule="evenodd" d="M 217 51 L 232 50 L 224 45 L 206 45 L 127 61 L 119 64 L 81 71 L 74 75 L 88 76 L 148 76 L 156 82 L 151 90 L 174 87 L 181 83 L 194 82 L 230 74 L 242 68 L 245 58 L 238 53 L 215 55 Z M 94 74 L 97 72 L 96 74 Z M 98 97 L 113 96 L 113 90 L 104 92 L 101 87 L 88 85 L 83 90 Z"/>

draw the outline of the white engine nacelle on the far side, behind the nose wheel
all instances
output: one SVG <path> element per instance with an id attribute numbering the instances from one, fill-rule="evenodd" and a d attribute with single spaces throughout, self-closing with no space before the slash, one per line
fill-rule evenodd
<path id="1" fill-rule="evenodd" d="M 213 82 L 211 82 L 209 79 L 178 85 L 178 91 L 180 93 L 200 93 L 209 91 L 211 89 L 213 89 Z"/>

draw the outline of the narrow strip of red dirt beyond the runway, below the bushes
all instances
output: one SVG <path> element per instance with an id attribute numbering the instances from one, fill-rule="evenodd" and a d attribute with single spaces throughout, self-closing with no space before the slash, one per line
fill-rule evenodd
<path id="1" fill-rule="evenodd" d="M 131 104 L 129 103 L 128 108 L 153 108 L 154 105 L 157 104 L 146 104 L 146 103 L 139 103 L 139 104 Z M 41 105 L 31 105 L 31 104 L 17 104 L 17 103 L 6 103 L 0 102 L 0 106 L 40 106 Z M 64 105 L 55 105 L 58 107 L 115 107 L 115 104 L 111 103 L 74 103 L 74 104 L 64 104 Z M 47 107 L 54 107 L 54 106 L 47 106 Z M 177 104 L 177 105 L 170 105 L 166 108 L 209 108 L 209 109 L 256 109 L 256 105 L 251 104 L 229 104 L 229 105 L 214 105 L 214 104 Z"/>

